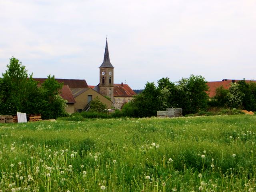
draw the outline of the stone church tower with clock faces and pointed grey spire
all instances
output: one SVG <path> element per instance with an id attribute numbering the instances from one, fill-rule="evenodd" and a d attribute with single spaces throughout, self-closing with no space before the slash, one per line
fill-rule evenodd
<path id="1" fill-rule="evenodd" d="M 108 38 L 106 38 L 106 47 L 104 60 L 100 68 L 100 94 L 108 96 L 111 101 L 114 100 L 114 67 L 110 63 L 108 53 Z"/>

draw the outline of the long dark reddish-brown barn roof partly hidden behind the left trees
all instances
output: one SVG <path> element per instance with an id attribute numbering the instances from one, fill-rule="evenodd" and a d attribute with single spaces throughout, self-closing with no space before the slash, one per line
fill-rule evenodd
<path id="1" fill-rule="evenodd" d="M 33 78 L 36 81 L 39 81 L 39 84 L 42 84 L 47 78 Z M 86 80 L 84 79 L 55 79 L 59 83 L 68 85 L 69 88 L 88 88 Z"/>

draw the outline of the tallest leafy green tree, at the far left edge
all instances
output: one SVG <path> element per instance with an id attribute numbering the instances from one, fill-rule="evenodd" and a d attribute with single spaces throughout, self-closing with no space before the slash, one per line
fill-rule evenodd
<path id="1" fill-rule="evenodd" d="M 28 78 L 25 66 L 14 57 L 10 58 L 7 68 L 0 80 L 0 114 L 29 112 L 27 102 L 37 89 L 32 75 Z"/>

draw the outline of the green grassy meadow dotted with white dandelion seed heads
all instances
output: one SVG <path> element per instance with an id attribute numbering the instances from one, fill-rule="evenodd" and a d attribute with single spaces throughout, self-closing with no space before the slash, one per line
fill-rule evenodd
<path id="1" fill-rule="evenodd" d="M 0 124 L 0 192 L 256 187 L 256 115 Z"/>

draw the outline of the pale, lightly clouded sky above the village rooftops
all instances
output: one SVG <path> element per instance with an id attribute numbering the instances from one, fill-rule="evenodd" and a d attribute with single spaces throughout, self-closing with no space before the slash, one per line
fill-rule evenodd
<path id="1" fill-rule="evenodd" d="M 0 73 L 99 82 L 106 35 L 114 83 L 256 80 L 255 0 L 0 0 Z"/>

